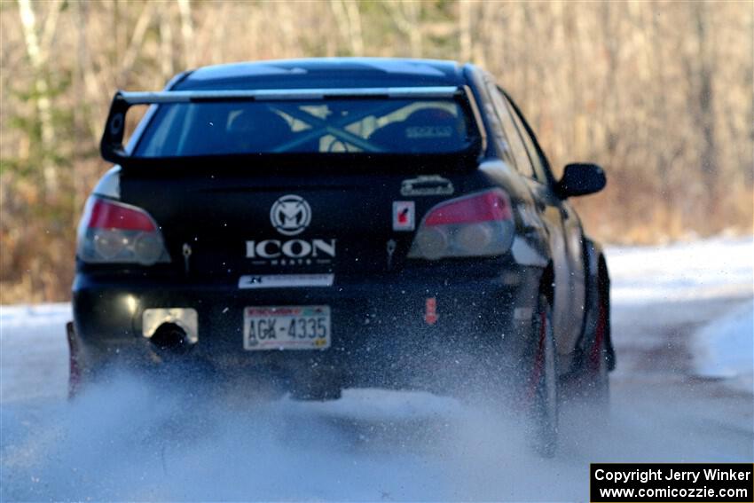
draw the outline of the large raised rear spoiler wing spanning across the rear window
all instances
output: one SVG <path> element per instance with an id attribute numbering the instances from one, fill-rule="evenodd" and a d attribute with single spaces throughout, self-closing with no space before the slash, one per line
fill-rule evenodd
<path id="1" fill-rule="evenodd" d="M 482 116 L 476 106 L 474 94 L 467 86 L 343 88 L 343 89 L 289 89 L 289 90 L 161 90 L 115 92 L 110 112 L 107 114 L 105 132 L 99 144 L 102 158 L 116 164 L 134 161 L 123 146 L 126 113 L 134 105 L 166 105 L 175 103 L 206 103 L 222 101 L 293 101 L 326 100 L 334 98 L 460 98 L 473 114 L 479 136 L 481 152 L 487 149 L 487 136 Z"/>

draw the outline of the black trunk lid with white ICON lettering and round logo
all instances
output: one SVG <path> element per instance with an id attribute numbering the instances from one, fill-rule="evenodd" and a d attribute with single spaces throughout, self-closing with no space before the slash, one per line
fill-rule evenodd
<path id="1" fill-rule="evenodd" d="M 458 170 L 317 176 L 155 171 L 125 169 L 122 200 L 159 224 L 177 274 L 226 284 L 261 275 L 334 274 L 345 282 L 397 274 L 421 216 L 458 194 L 467 177 Z"/>

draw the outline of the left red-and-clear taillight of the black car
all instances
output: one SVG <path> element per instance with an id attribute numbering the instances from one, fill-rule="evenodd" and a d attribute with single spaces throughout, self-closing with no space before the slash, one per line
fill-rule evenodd
<path id="1" fill-rule="evenodd" d="M 90 197 L 79 224 L 78 256 L 88 263 L 170 262 L 162 234 L 145 210 Z"/>

